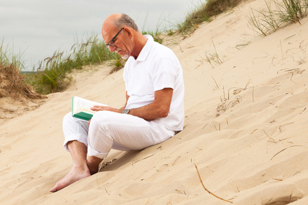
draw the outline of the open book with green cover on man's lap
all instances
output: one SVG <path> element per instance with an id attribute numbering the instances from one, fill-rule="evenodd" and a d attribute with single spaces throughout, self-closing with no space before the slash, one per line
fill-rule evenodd
<path id="1" fill-rule="evenodd" d="M 90 120 L 92 118 L 95 111 L 92 111 L 90 109 L 91 107 L 93 107 L 94 105 L 103 105 L 99 102 L 86 100 L 77 96 L 74 96 L 72 101 L 72 116 L 81 120 Z"/>

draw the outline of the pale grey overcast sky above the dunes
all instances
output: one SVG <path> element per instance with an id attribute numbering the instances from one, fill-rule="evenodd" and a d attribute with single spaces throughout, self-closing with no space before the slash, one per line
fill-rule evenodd
<path id="1" fill-rule="evenodd" d="M 55 51 L 70 51 L 90 36 L 101 38 L 107 16 L 125 13 L 140 31 L 170 29 L 204 0 L 0 0 L 0 40 L 21 55 L 25 71 Z M 101 38 L 102 39 L 102 38 Z M 1 45 L 0 42 L 0 45 Z"/>

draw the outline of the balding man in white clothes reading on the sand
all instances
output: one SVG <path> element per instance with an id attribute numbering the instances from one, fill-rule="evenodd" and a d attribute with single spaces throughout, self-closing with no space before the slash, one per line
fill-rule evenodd
<path id="1" fill-rule="evenodd" d="M 51 192 L 98 172 L 111 148 L 142 150 L 183 129 L 183 72 L 175 54 L 151 36 L 143 36 L 126 14 L 108 16 L 102 35 L 111 52 L 129 58 L 123 74 L 126 103 L 120 109 L 92 107 L 97 112 L 89 122 L 71 113 L 64 117 L 64 148 L 73 167 Z"/>

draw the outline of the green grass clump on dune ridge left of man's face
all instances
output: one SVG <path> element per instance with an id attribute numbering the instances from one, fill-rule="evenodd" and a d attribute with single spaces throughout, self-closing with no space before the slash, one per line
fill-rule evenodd
<path id="1" fill-rule="evenodd" d="M 109 59 L 116 59 L 117 53 L 111 53 L 105 47 L 105 42 L 97 36 L 88 38 L 85 43 L 76 43 L 70 49 L 71 53 L 64 56 L 64 52 L 55 52 L 52 57 L 41 61 L 37 72 L 27 74 L 27 82 L 35 87 L 40 94 L 61 92 L 70 83 L 68 73 L 83 66 L 101 64 Z"/>

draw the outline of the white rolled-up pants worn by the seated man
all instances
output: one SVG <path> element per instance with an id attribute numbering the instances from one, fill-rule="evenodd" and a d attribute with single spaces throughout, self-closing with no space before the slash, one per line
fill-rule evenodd
<path id="1" fill-rule="evenodd" d="M 104 159 L 111 148 L 116 150 L 142 150 L 169 139 L 169 131 L 155 121 L 146 121 L 133 115 L 98 111 L 88 121 L 73 118 L 68 113 L 63 119 L 64 148 L 68 141 L 77 140 L 88 147 L 89 156 Z"/>

